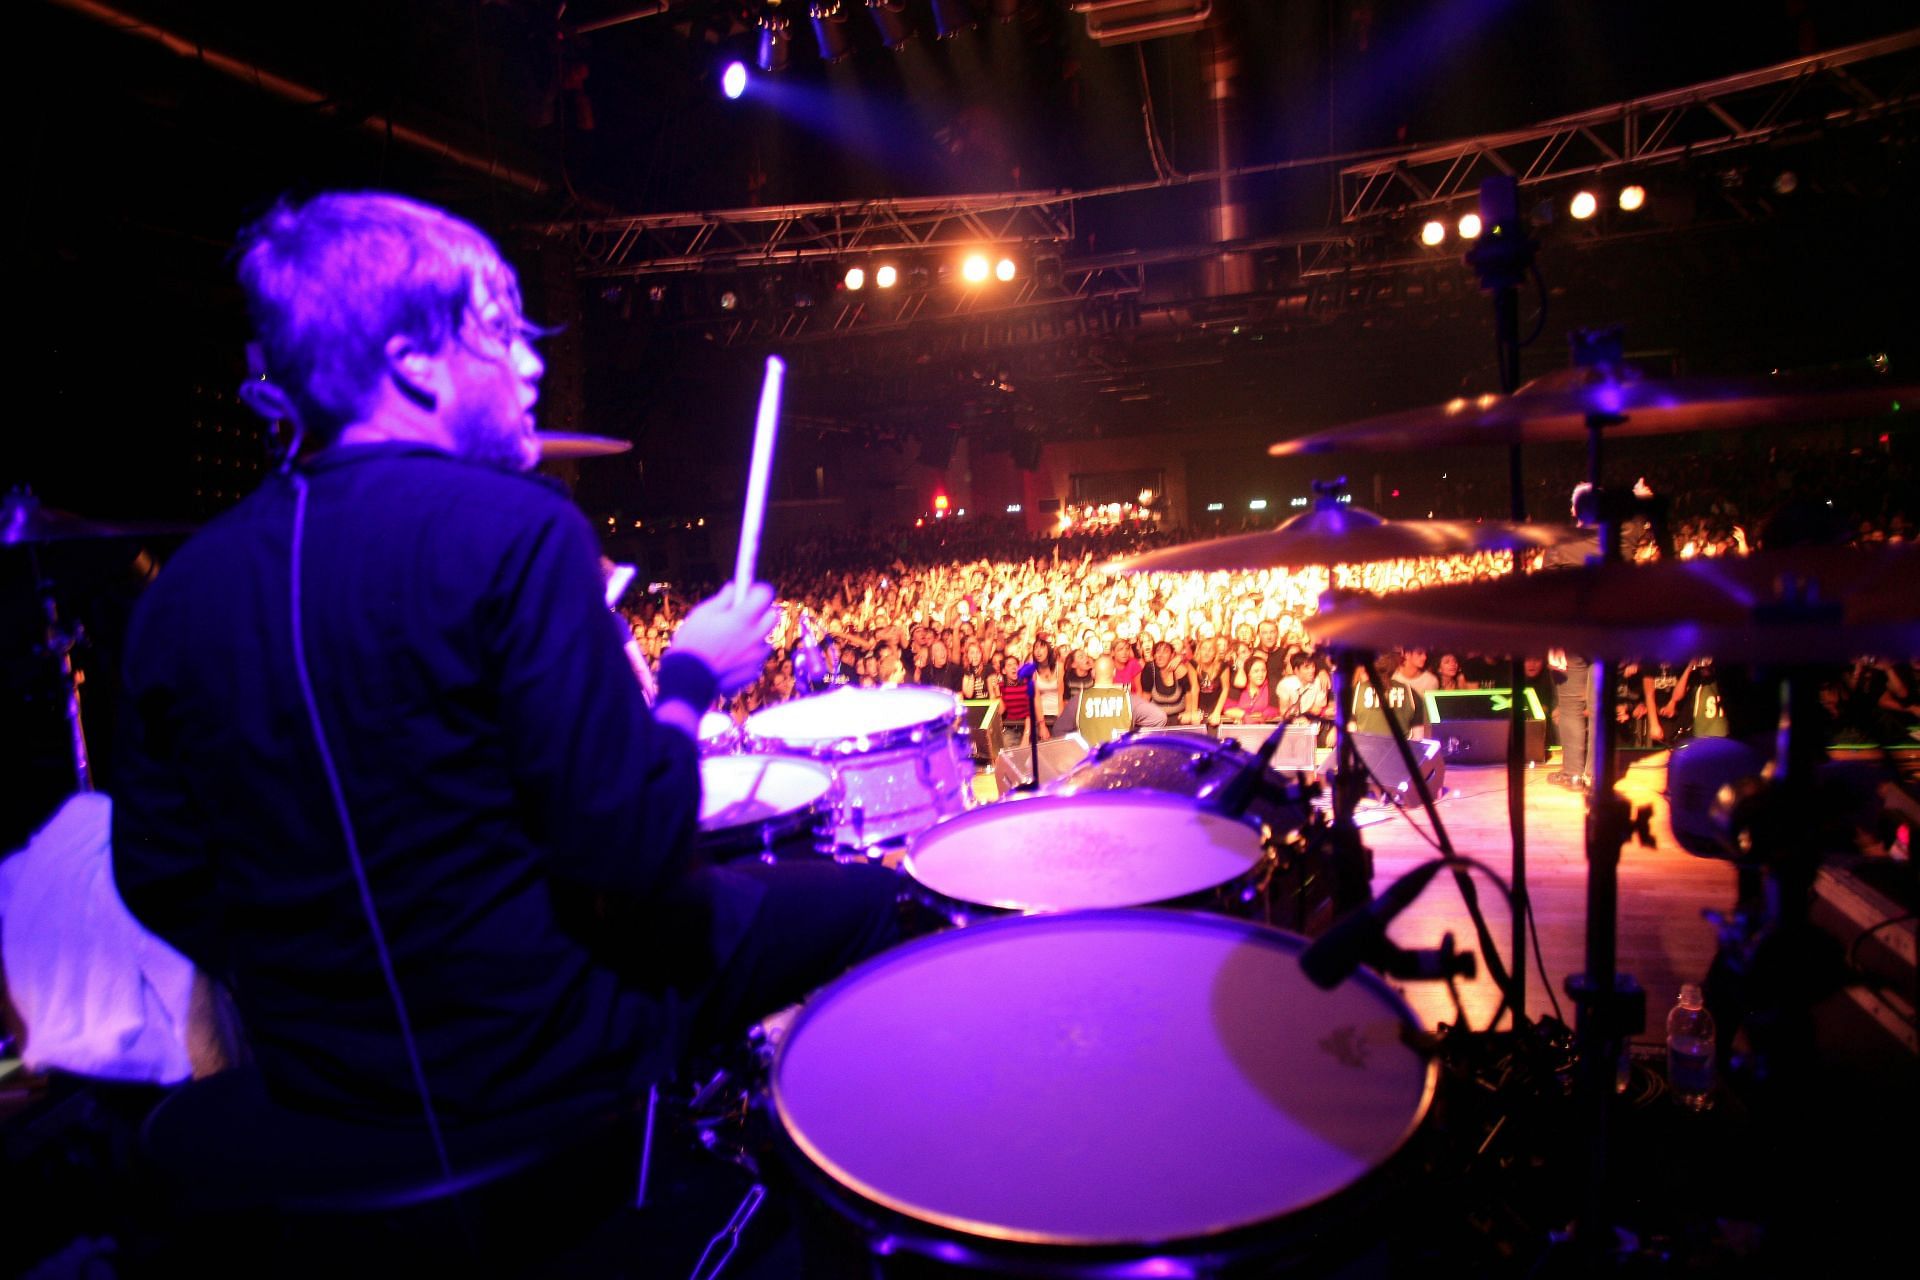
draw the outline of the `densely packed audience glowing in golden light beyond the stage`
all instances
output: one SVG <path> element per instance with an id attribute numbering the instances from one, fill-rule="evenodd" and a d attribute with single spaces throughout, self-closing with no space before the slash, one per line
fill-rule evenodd
<path id="1" fill-rule="evenodd" d="M 1715 487 L 1730 478 L 1726 459 L 1672 466 L 1684 482 L 1670 495 L 1674 549 L 1682 558 L 1743 555 L 1745 512 L 1759 522 L 1788 499 L 1805 503 L 1809 484 L 1839 486 L 1832 491 L 1849 499 L 1849 510 L 1834 520 L 1853 541 L 1912 535 L 1905 509 L 1889 497 L 1897 489 L 1885 489 L 1889 472 L 1897 480 L 1901 468 L 1876 464 L 1872 457 L 1768 455 L 1761 468 L 1764 482 L 1745 489 Z M 1866 512 L 1859 516 L 1862 497 Z M 1235 530 L 1125 524 L 1046 537 L 1014 522 L 935 520 L 893 533 L 808 537 L 766 566 L 781 599 L 776 652 L 762 679 L 726 712 L 743 722 L 762 706 L 826 687 L 924 683 L 962 699 L 1002 699 L 1008 743 L 1027 733 L 1046 739 L 1062 706 L 1096 683 L 1096 668 L 1104 676 L 1110 660 L 1110 679 L 1150 700 L 1167 723 L 1319 716 L 1331 700 L 1331 664 L 1308 635 L 1306 620 L 1325 591 L 1411 591 L 1513 568 L 1509 555 L 1482 553 L 1213 574 L 1106 570 L 1114 557 L 1225 532 Z M 1653 555 L 1651 539 L 1640 541 L 1638 555 Z M 672 589 L 630 597 L 624 612 L 649 662 L 659 662 L 670 645 L 682 601 L 697 595 L 699 587 L 685 597 Z M 1428 654 L 1417 641 L 1407 637 L 1407 649 L 1384 654 L 1379 668 L 1390 710 L 1415 733 L 1425 722 L 1419 693 L 1507 685 L 1505 662 L 1471 652 Z M 1551 720 L 1555 679 L 1546 658 L 1546 649 L 1528 658 L 1526 683 Z M 1018 676 L 1029 664 L 1031 708 Z M 1836 672 L 1826 699 L 1836 735 L 1908 741 L 1920 725 L 1914 689 L 1914 670 L 1903 662 Z M 1692 729 L 1699 706 L 1713 712 L 1711 668 L 1634 664 L 1622 672 L 1613 714 L 1630 743 L 1663 747 Z M 1365 720 L 1377 708 L 1359 710 Z"/>

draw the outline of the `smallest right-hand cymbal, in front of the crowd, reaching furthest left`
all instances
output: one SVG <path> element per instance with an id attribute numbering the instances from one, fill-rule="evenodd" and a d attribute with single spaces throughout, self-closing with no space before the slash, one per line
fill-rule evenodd
<path id="1" fill-rule="evenodd" d="M 1279 568 L 1283 564 L 1365 564 L 1475 551 L 1551 547 L 1586 537 L 1582 530 L 1501 520 L 1386 520 L 1357 507 L 1321 503 L 1279 528 L 1204 543 L 1162 547 L 1108 562 L 1114 574 L 1183 574 Z"/>

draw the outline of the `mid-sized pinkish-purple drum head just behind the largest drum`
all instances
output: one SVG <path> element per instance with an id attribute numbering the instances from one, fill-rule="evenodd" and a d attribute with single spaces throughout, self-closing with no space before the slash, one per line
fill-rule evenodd
<path id="1" fill-rule="evenodd" d="M 1263 854 L 1248 823 L 1135 791 L 975 810 L 925 831 L 904 865 L 954 902 L 1079 912 L 1175 902 L 1246 875 Z"/>

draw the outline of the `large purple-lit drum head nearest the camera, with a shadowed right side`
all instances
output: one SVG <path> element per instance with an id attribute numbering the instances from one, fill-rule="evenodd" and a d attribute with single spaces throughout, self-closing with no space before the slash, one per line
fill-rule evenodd
<path id="1" fill-rule="evenodd" d="M 1384 1163 L 1434 1063 L 1306 940 L 1188 912 L 1020 917 L 922 938 L 799 1015 L 774 1063 L 839 1186 L 991 1242 L 1142 1245 L 1269 1224 Z"/>

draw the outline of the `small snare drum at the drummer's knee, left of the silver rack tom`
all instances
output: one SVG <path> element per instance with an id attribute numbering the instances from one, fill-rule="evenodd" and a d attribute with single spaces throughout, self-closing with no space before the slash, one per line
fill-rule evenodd
<path id="1" fill-rule="evenodd" d="M 833 852 L 833 771 L 785 756 L 701 760 L 701 833 L 710 862 L 814 858 Z"/>

